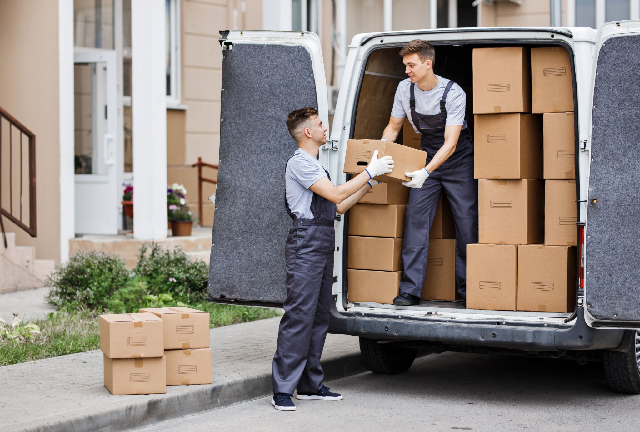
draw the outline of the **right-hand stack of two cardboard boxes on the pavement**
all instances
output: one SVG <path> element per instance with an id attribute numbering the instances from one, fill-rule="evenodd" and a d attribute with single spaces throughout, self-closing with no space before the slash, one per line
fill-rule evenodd
<path id="1" fill-rule="evenodd" d="M 191 307 L 140 309 L 164 325 L 166 385 L 211 384 L 209 312 Z"/>

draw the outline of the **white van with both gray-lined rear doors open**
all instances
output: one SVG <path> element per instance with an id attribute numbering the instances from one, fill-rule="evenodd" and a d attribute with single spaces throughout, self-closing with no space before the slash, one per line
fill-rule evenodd
<path id="1" fill-rule="evenodd" d="M 220 170 L 209 301 L 280 306 L 291 227 L 284 208 L 284 169 L 297 148 L 285 117 L 293 109 L 316 106 L 324 124 L 329 123 L 320 41 L 306 32 L 221 35 Z M 463 88 L 472 86 L 474 47 L 561 46 L 570 52 L 580 257 L 575 311 L 349 302 L 346 213 L 335 224 L 330 332 L 360 337 L 364 360 L 377 373 L 406 371 L 419 349 L 509 351 L 580 363 L 602 359 L 613 390 L 640 393 L 640 22 L 610 22 L 597 34 L 582 27 L 479 27 L 356 35 L 330 141 L 319 155 L 333 183 L 347 181 L 342 166 L 356 128 L 369 138 L 381 136 L 397 82 L 404 79 L 397 52 L 416 38 L 434 45 L 435 72 Z M 365 75 L 389 79 L 363 86 Z M 366 102 L 362 107 L 375 109 L 358 114 L 361 100 Z"/>

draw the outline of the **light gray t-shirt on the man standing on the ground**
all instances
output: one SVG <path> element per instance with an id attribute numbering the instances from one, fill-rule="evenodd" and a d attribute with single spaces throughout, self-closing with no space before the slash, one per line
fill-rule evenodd
<path id="1" fill-rule="evenodd" d="M 299 148 L 293 153 L 285 170 L 287 203 L 296 217 L 312 219 L 311 200 L 314 197 L 311 185 L 326 177 L 324 167 L 317 159 Z"/>

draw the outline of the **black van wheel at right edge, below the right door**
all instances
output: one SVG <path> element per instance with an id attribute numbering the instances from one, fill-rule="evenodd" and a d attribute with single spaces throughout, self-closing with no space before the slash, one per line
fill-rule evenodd
<path id="1" fill-rule="evenodd" d="M 604 351 L 604 372 L 614 392 L 640 394 L 640 330 L 631 337 L 633 340 L 626 352 Z"/>

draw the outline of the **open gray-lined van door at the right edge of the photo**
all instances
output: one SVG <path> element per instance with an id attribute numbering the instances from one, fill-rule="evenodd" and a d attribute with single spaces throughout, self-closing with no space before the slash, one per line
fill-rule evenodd
<path id="1" fill-rule="evenodd" d="M 605 24 L 595 52 L 585 316 L 640 328 L 640 21 Z"/>

